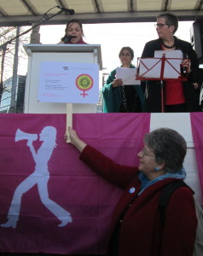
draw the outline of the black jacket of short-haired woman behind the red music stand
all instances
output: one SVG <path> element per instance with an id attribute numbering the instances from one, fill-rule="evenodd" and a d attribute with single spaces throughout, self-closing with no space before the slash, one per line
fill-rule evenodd
<path id="1" fill-rule="evenodd" d="M 193 83 L 202 83 L 203 70 L 199 68 L 197 55 L 192 45 L 186 41 L 175 38 L 176 49 L 183 51 L 183 57 L 191 61 L 191 73 L 188 73 L 188 81 L 183 81 L 183 91 L 187 112 L 200 111 L 200 90 L 194 89 Z M 142 57 L 154 57 L 154 50 L 161 50 L 161 40 L 156 39 L 145 44 Z M 148 80 L 146 86 L 146 112 L 161 112 L 161 90 L 159 80 Z M 165 90 L 164 90 L 165 94 Z"/>

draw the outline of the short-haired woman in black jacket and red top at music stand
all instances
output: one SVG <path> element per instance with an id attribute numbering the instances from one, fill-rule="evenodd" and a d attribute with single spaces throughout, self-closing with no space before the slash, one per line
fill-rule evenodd
<path id="1" fill-rule="evenodd" d="M 178 27 L 177 16 L 170 13 L 159 15 L 155 27 L 159 39 L 145 44 L 142 58 L 154 57 L 155 50 L 179 49 L 183 52 L 183 58 L 189 59 L 188 65 L 185 60 L 182 63 L 183 68 L 188 69 L 188 80 L 165 80 L 162 90 L 162 83 L 159 80 L 146 81 L 146 111 L 173 113 L 200 111 L 200 90 L 194 88 L 194 83 L 199 82 L 199 63 L 192 45 L 174 36 Z"/>

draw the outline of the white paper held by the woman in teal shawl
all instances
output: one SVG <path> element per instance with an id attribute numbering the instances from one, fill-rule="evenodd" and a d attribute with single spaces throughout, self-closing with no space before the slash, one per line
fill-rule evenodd
<path id="1" fill-rule="evenodd" d="M 116 78 L 122 79 L 124 85 L 141 84 L 140 80 L 136 80 L 136 68 L 117 67 Z"/>

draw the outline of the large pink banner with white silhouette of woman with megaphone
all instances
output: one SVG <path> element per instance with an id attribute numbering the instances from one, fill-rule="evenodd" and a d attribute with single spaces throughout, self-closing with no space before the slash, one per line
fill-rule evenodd
<path id="1" fill-rule="evenodd" d="M 78 136 L 135 166 L 149 113 L 73 114 Z M 0 114 L 0 252 L 102 254 L 122 191 L 70 143 L 66 114 Z"/>

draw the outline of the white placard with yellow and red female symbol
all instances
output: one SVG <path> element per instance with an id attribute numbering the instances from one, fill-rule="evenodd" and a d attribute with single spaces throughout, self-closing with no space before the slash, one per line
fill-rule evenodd
<path id="1" fill-rule="evenodd" d="M 99 66 L 95 63 L 42 61 L 38 101 L 97 103 Z"/>

